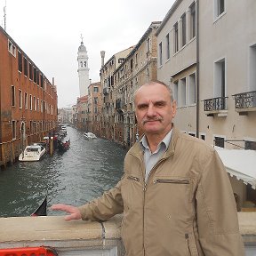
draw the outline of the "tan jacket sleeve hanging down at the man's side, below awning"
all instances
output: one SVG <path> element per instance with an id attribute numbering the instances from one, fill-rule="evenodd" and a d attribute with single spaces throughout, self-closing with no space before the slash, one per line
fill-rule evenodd
<path id="1" fill-rule="evenodd" d="M 208 154 L 206 154 L 208 155 Z M 236 203 L 228 173 L 215 150 L 202 164 L 196 192 L 197 225 L 205 256 L 243 256 Z"/>

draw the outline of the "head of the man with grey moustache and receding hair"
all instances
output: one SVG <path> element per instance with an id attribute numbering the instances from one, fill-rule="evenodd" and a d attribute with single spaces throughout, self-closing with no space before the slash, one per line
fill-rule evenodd
<path id="1" fill-rule="evenodd" d="M 172 129 L 176 102 L 163 84 L 142 85 L 135 95 L 138 124 L 146 134 L 165 135 Z"/>

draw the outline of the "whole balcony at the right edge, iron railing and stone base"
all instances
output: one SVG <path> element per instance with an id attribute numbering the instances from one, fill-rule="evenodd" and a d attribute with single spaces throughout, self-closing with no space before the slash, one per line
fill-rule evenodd
<path id="1" fill-rule="evenodd" d="M 235 100 L 236 112 L 240 116 L 246 116 L 248 112 L 256 111 L 256 91 L 238 93 L 232 97 Z"/>

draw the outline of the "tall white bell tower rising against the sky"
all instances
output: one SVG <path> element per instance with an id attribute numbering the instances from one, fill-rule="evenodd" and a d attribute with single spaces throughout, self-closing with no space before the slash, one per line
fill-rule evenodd
<path id="1" fill-rule="evenodd" d="M 77 62 L 78 62 L 78 77 L 79 77 L 79 91 L 80 97 L 88 95 L 88 86 L 90 85 L 89 70 L 88 68 L 88 55 L 86 47 L 84 46 L 83 36 L 81 35 L 81 44 L 78 47 Z"/>

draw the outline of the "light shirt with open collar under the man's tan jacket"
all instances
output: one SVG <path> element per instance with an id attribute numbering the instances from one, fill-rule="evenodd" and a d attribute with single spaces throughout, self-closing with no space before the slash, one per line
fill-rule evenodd
<path id="1" fill-rule="evenodd" d="M 147 182 L 149 173 L 151 172 L 152 168 L 155 166 L 159 158 L 164 155 L 164 152 L 169 147 L 171 138 L 172 138 L 172 130 L 166 134 L 164 139 L 157 145 L 156 151 L 153 153 L 148 147 L 148 140 L 146 136 L 144 135 L 141 138 L 140 148 L 144 151 L 144 163 L 145 163 L 145 169 L 146 169 L 145 182 Z"/>

